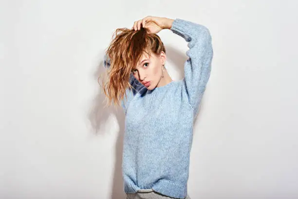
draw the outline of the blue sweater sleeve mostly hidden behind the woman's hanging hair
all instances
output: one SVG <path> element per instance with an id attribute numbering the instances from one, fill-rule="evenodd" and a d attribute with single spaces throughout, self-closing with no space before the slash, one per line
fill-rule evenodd
<path id="1" fill-rule="evenodd" d="M 111 59 L 106 54 L 104 55 L 103 66 L 106 69 L 109 69 L 111 66 Z M 137 93 L 144 94 L 145 91 L 147 90 L 146 86 L 144 86 L 138 80 L 136 80 L 135 77 L 132 75 L 132 73 L 130 73 L 129 82 L 134 89 L 131 90 L 130 88 L 127 88 L 125 91 L 126 97 L 124 96 L 124 98 L 121 100 L 121 106 L 122 106 L 125 114 L 127 112 L 130 101 L 133 99 L 133 97 Z"/>

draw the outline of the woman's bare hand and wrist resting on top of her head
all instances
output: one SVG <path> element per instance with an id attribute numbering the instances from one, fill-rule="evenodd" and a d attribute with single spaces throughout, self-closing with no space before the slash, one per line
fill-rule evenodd
<path id="1" fill-rule="evenodd" d="M 140 30 L 141 25 L 147 29 L 151 33 L 158 33 L 162 29 L 169 29 L 172 26 L 172 22 L 174 20 L 168 19 L 165 17 L 153 17 L 153 16 L 147 16 L 143 18 L 142 20 L 134 21 L 133 23 L 133 29 L 134 30 Z"/>

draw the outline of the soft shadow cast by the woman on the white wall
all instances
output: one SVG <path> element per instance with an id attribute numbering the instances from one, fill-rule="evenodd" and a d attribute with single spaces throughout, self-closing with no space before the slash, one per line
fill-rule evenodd
<path id="1" fill-rule="evenodd" d="M 168 60 L 174 63 L 175 70 L 178 71 L 178 79 L 183 79 L 184 77 L 184 63 L 188 59 L 186 53 L 183 53 L 171 46 L 166 47 L 166 53 Z M 103 54 L 104 55 L 104 54 Z M 103 56 L 102 56 L 103 57 Z M 167 67 L 167 63 L 165 64 Z M 103 60 L 100 61 L 99 66 L 96 68 L 93 74 L 94 82 L 98 85 L 98 92 L 95 98 L 92 100 L 92 104 L 89 111 L 89 121 L 92 126 L 93 133 L 95 135 L 100 135 L 104 133 L 109 133 L 109 130 L 99 131 L 102 127 L 105 127 L 109 116 L 113 114 L 119 124 L 119 133 L 115 143 L 115 166 L 112 181 L 112 196 L 111 199 L 125 199 L 125 193 L 123 188 L 123 178 L 122 178 L 122 152 L 123 152 L 123 136 L 125 130 L 125 114 L 121 106 L 115 108 L 113 105 L 104 108 L 105 95 L 102 93 L 100 85 L 97 83 L 98 77 L 105 72 L 105 67 L 103 66 Z M 173 78 L 172 78 L 173 79 Z M 101 80 L 101 79 L 100 79 Z M 174 80 L 174 79 L 173 79 Z M 202 101 L 203 102 L 203 101 Z M 199 114 L 198 114 L 199 115 Z M 196 120 L 199 116 L 196 118 Z M 104 128 L 105 129 L 105 128 Z"/>

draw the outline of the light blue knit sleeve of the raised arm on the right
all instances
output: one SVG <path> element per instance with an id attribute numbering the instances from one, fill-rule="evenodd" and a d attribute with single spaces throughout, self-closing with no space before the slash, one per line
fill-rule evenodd
<path id="1" fill-rule="evenodd" d="M 186 55 L 189 58 L 184 64 L 183 92 L 186 93 L 190 106 L 196 110 L 211 72 L 211 35 L 205 26 L 178 18 L 173 21 L 170 30 L 188 42 Z"/>

